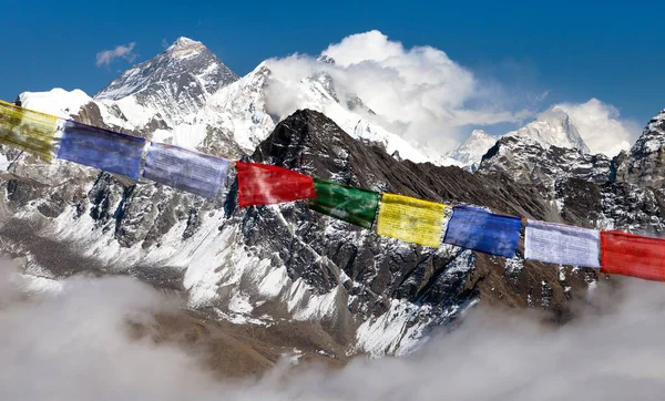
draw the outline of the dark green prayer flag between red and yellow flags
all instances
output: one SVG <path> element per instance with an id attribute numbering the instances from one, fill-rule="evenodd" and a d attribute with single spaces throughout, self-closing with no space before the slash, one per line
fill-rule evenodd
<path id="1" fill-rule="evenodd" d="M 314 178 L 314 189 L 316 197 L 309 199 L 310 209 L 371 228 L 379 207 L 379 193 L 319 178 Z"/>

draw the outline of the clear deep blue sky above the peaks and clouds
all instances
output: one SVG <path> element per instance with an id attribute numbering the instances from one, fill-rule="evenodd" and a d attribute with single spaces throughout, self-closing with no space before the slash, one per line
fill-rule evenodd
<path id="1" fill-rule="evenodd" d="M 99 68 L 96 53 L 130 42 L 140 62 L 186 35 L 243 75 L 264 59 L 318 54 L 378 29 L 406 48 L 440 49 L 515 96 L 549 91 L 548 104 L 597 97 L 643 125 L 665 107 L 664 13 L 662 2 L 10 1 L 0 14 L 0 99 L 54 86 L 92 95 L 131 65 Z"/>

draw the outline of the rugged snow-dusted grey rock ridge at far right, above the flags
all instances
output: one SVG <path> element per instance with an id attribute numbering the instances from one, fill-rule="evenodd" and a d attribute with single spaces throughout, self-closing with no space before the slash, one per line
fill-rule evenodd
<path id="1" fill-rule="evenodd" d="M 663 145 L 665 112 L 649 121 L 630 153 L 612 160 L 504 136 L 484 155 L 479 173 L 500 172 L 541 187 L 565 222 L 658 236 L 665 216 Z"/>

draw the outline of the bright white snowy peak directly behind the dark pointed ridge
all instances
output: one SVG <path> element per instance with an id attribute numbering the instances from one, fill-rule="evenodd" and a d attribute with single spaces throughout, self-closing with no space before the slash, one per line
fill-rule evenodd
<path id="1" fill-rule="evenodd" d="M 355 138 L 378 145 L 390 154 L 399 151 L 402 158 L 429 161 L 399 135 L 391 134 L 357 114 L 356 111 L 364 106 L 357 96 L 348 102 L 340 101 L 334 91 L 331 78 L 324 73 L 308 76 L 296 86 L 288 86 L 288 91 L 296 94 L 297 103 L 277 114 L 272 113 L 266 105 L 269 93 L 285 88 L 284 85 L 266 62 L 215 93 L 196 117 L 197 121 L 205 122 L 208 132 L 202 146 L 217 150 L 231 140 L 237 144 L 239 152 L 250 153 L 269 135 L 279 120 L 298 109 L 309 109 L 323 112 Z M 229 150 L 226 152 L 225 154 L 229 154 Z"/>

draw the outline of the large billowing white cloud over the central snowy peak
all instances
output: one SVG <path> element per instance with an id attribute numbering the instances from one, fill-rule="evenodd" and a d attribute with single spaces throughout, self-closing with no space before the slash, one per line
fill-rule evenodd
<path id="1" fill-rule="evenodd" d="M 321 55 L 336 63 L 300 54 L 268 61 L 274 86 L 267 91 L 268 112 L 284 117 L 295 111 L 301 100 L 288 89 L 325 71 L 342 102 L 346 95 L 357 94 L 378 114 L 366 119 L 439 154 L 453 150 L 469 134 L 466 125 L 518 123 L 532 115 L 500 84 L 479 80 L 443 51 L 407 49 L 379 31 L 345 38 Z"/>

